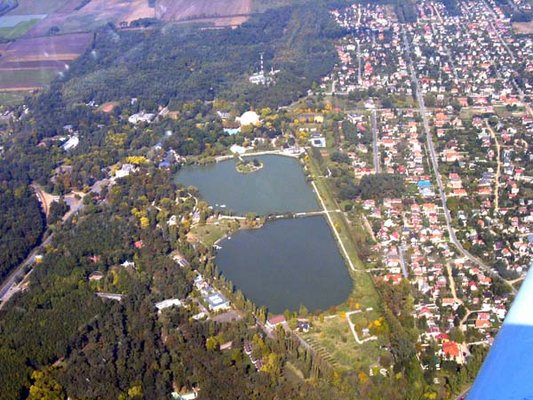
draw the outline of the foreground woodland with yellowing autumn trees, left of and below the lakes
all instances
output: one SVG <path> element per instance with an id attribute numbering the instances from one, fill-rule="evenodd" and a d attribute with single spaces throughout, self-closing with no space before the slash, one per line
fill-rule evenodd
<path id="1" fill-rule="evenodd" d="M 3 400 L 161 399 L 191 388 L 201 389 L 201 399 L 349 398 L 317 379 L 297 339 L 281 331 L 267 342 L 250 329 L 249 315 L 233 323 L 196 322 L 193 304 L 158 314 L 155 302 L 191 293 L 193 269 L 214 273 L 207 250 L 183 240 L 186 224 L 165 222 L 189 215 L 194 200 L 175 201 L 188 193 L 160 170 L 143 170 L 107 193 L 106 202 L 88 198 L 80 216 L 59 226 L 30 290 L 0 311 Z M 175 249 L 190 267 L 169 257 Z M 134 266 L 121 267 L 124 260 Z M 103 279 L 91 281 L 95 271 Z M 103 300 L 97 291 L 124 297 Z M 244 354 L 244 340 L 267 360 L 263 372 Z M 221 350 L 227 342 L 230 349 Z M 289 361 L 315 383 L 291 375 Z"/>

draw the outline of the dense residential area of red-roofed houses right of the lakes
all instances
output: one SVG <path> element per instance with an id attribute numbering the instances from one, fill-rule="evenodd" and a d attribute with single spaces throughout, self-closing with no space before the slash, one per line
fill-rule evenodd
<path id="1" fill-rule="evenodd" d="M 493 1 L 458 4 L 461 15 L 450 16 L 440 2 L 419 2 L 419 23 L 402 25 L 387 6 L 334 11 L 337 23 L 356 34 L 337 43 L 339 64 L 322 88 L 337 95 L 372 89 L 381 96 L 412 96 L 409 42 L 445 192 L 461 200 L 453 213 L 458 236 L 469 248 L 482 246 L 484 259 L 523 277 L 533 255 L 533 200 L 521 190 L 531 181 L 526 170 L 533 116 L 524 99 L 533 88 L 527 79 L 518 84 L 515 76 L 533 71 L 533 40 L 514 35 Z M 403 198 L 363 202 L 377 241 L 380 262 L 374 271 L 392 284 L 409 279 L 413 285 L 421 348 L 437 345 L 442 359 L 464 363 L 469 346 L 492 342 L 509 296 L 496 294 L 493 278 L 448 240 L 418 108 L 379 107 L 376 100 L 383 102 L 374 98 L 363 108 L 375 110 L 379 167 L 403 175 L 412 190 Z M 494 115 L 504 112 L 510 116 L 500 116 L 495 125 Z M 347 119 L 358 132 L 369 129 L 364 111 Z M 359 144 L 348 154 L 356 177 L 375 172 L 368 168 L 369 150 L 368 143 Z M 493 243 L 484 240 L 487 231 L 496 237 Z M 464 340 L 452 340 L 457 330 Z"/>

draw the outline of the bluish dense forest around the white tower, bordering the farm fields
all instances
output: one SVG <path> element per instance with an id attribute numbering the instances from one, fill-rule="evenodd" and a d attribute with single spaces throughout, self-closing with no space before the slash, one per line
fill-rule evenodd
<path id="1" fill-rule="evenodd" d="M 340 33 L 319 4 L 269 10 L 234 30 L 166 25 L 139 32 L 107 26 L 36 106 L 50 111 L 135 97 L 155 109 L 171 100 L 219 96 L 255 106 L 286 105 L 332 68 L 332 39 Z M 260 53 L 268 69 L 280 70 L 273 85 L 248 82 L 259 69 Z"/>

